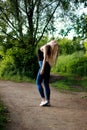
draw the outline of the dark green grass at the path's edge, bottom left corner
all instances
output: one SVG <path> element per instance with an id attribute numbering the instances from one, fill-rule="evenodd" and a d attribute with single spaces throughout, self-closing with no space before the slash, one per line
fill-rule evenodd
<path id="1" fill-rule="evenodd" d="M 0 101 L 0 130 L 5 130 L 5 126 L 8 122 L 8 111 Z"/>

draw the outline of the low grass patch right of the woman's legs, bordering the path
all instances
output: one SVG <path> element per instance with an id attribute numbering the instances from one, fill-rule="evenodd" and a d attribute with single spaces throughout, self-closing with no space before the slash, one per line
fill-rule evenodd
<path id="1" fill-rule="evenodd" d="M 66 75 L 52 83 L 60 91 L 87 92 L 87 77 Z"/>

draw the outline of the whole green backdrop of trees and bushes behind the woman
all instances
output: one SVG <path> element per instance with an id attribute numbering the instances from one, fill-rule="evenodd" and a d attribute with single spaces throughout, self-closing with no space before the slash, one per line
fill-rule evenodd
<path id="1" fill-rule="evenodd" d="M 86 77 L 87 13 L 79 14 L 82 8 L 87 9 L 86 0 L 1 0 L 0 78 L 36 79 L 37 49 L 51 39 L 60 45 L 52 73 Z"/>

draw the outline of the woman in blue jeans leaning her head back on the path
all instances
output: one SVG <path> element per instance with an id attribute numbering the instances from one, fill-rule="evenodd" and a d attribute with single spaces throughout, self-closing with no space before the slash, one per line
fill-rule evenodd
<path id="1" fill-rule="evenodd" d="M 51 66 L 56 62 L 58 49 L 59 46 L 55 41 L 50 41 L 38 49 L 38 61 L 40 69 L 37 75 L 36 84 L 42 98 L 40 106 L 50 105 L 50 70 Z M 44 84 L 44 88 L 42 86 L 42 83 Z"/>

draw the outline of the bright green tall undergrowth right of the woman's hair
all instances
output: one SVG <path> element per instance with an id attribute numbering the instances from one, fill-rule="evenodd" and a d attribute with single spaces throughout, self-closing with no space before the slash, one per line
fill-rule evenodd
<path id="1" fill-rule="evenodd" d="M 52 70 L 55 73 L 71 73 L 80 76 L 87 75 L 87 58 L 82 52 L 72 55 L 59 56 L 56 66 Z"/>

